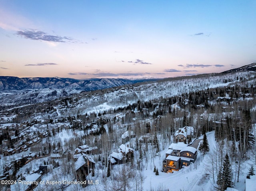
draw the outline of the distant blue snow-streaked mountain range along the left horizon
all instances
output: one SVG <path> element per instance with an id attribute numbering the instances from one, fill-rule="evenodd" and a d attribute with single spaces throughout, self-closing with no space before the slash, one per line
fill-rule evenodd
<path id="1" fill-rule="evenodd" d="M 19 78 L 0 76 L 0 91 L 4 90 L 26 90 L 26 89 L 62 89 L 73 88 L 82 91 L 94 91 L 99 89 L 112 88 L 122 85 L 128 85 L 144 80 L 129 80 L 129 79 L 92 79 L 92 80 L 78 80 L 72 78 L 59 77 L 35 77 L 35 78 Z"/>

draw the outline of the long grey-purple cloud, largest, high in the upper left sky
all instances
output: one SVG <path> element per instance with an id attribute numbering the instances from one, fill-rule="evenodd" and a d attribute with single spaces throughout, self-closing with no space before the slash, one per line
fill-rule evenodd
<path id="1" fill-rule="evenodd" d="M 61 37 L 61 36 L 54 36 L 54 35 L 49 35 L 45 32 L 42 31 L 17 31 L 17 35 L 32 39 L 32 40 L 43 40 L 43 41 L 49 41 L 49 42 L 67 42 L 67 41 L 73 41 L 72 38 L 70 37 Z M 73 41 L 74 42 L 74 41 Z"/>

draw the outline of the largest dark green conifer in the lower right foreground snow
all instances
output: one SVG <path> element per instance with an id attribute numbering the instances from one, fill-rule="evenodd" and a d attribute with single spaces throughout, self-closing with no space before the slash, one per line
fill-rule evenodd
<path id="1" fill-rule="evenodd" d="M 231 164 L 229 161 L 228 154 L 226 154 L 224 158 L 224 163 L 222 166 L 221 173 L 219 174 L 217 183 L 221 191 L 224 191 L 227 189 L 227 187 L 232 186 L 232 171 L 231 171 Z"/>

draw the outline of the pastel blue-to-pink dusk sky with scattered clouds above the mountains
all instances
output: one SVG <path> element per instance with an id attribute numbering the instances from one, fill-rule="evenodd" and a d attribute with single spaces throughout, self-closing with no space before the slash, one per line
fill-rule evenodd
<path id="1" fill-rule="evenodd" d="M 0 76 L 165 78 L 256 62 L 256 0 L 0 0 Z"/>

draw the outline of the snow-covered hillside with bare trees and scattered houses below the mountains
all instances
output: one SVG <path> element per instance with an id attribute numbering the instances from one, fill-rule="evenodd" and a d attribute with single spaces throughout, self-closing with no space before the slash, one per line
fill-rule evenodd
<path id="1" fill-rule="evenodd" d="M 30 86 L 40 87 L 37 80 Z M 226 178 L 225 155 L 230 187 L 245 189 L 249 168 L 256 167 L 256 72 L 91 92 L 76 90 L 81 83 L 0 92 L 0 189 L 224 191 L 217 180 Z M 209 150 L 201 146 L 204 132 Z"/>

